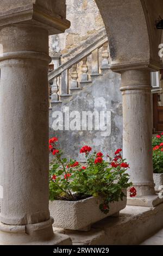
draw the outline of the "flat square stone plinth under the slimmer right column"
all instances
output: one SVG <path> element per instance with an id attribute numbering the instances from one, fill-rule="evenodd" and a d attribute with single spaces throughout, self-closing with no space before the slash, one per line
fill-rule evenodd
<path id="1" fill-rule="evenodd" d="M 155 207 L 156 205 L 159 205 L 162 202 L 163 202 L 163 196 L 161 196 L 161 194 L 127 198 L 127 205 Z"/>

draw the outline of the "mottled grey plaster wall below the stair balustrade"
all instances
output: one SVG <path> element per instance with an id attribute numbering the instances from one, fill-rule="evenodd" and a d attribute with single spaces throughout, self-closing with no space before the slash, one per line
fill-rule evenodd
<path id="1" fill-rule="evenodd" d="M 66 157 L 84 161 L 79 154 L 83 145 L 90 145 L 105 155 L 112 155 L 117 148 L 122 148 L 122 96 L 119 90 L 121 76 L 109 71 L 109 73 L 97 78 L 91 86 L 85 87 L 67 103 L 57 103 L 54 111 L 63 111 L 64 107 L 70 107 L 71 111 L 111 111 L 111 134 L 102 136 L 100 131 L 54 131 L 50 118 L 50 136 L 59 138 L 59 146 L 65 151 Z M 73 118 L 70 118 L 70 121 Z"/>

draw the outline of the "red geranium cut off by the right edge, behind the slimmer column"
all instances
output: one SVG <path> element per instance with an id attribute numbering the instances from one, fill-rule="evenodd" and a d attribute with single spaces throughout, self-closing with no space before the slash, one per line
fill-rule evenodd
<path id="1" fill-rule="evenodd" d="M 153 172 L 163 173 L 163 133 L 152 139 L 153 145 Z"/>

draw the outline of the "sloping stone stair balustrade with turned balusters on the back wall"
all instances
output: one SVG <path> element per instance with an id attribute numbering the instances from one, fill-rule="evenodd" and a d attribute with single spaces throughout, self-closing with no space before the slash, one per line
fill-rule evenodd
<path id="1" fill-rule="evenodd" d="M 93 42 L 70 60 L 49 72 L 50 109 L 72 99 L 84 87 L 109 72 L 108 38 L 106 32 L 94 37 Z"/>

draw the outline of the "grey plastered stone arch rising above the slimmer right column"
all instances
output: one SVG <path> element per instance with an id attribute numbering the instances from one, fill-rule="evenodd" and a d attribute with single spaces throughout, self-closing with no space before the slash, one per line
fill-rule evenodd
<path id="1" fill-rule="evenodd" d="M 96 3 L 108 34 L 111 68 L 158 69 L 161 30 L 155 28 L 155 20 L 163 16 L 162 1 L 96 0 Z"/>

